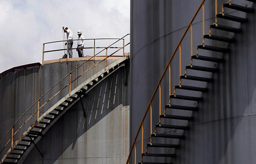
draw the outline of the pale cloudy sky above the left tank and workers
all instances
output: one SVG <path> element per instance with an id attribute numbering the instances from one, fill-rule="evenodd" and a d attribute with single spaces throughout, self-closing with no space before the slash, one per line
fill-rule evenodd
<path id="1" fill-rule="evenodd" d="M 1 0 L 0 15 L 0 72 L 42 63 L 43 43 L 63 40 L 62 26 L 73 31 L 74 39 L 78 30 L 85 38 L 120 38 L 130 33 L 130 0 Z M 109 41 L 96 46 L 107 46 Z M 76 45 L 74 41 L 73 48 Z M 56 43 L 46 50 L 63 47 Z M 88 53 L 84 52 L 91 55 Z M 45 56 L 61 58 L 53 53 Z M 73 57 L 77 57 L 76 51 Z"/>

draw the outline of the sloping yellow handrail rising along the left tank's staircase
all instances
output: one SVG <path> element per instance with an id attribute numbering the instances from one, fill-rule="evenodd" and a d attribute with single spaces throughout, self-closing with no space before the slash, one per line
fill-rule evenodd
<path id="1" fill-rule="evenodd" d="M 130 34 L 127 34 L 125 36 L 123 36 L 122 38 L 120 38 L 119 40 L 122 40 L 124 37 L 128 36 Z M 6 139 L 7 135 L 9 134 L 9 132 L 12 131 L 12 137 L 7 141 L 7 143 L 4 145 L 3 149 L 0 151 L 0 153 L 3 152 L 3 150 L 6 148 L 6 146 L 11 142 L 11 148 L 13 148 L 13 138 L 14 136 L 17 134 L 17 132 L 29 121 L 30 118 L 32 118 L 32 116 L 34 116 L 36 113 L 38 113 L 37 115 L 37 119 L 39 118 L 39 110 L 45 105 L 47 104 L 50 100 L 52 100 L 52 98 L 54 98 L 56 95 L 58 95 L 58 93 L 60 93 L 61 91 L 63 91 L 67 86 L 70 86 L 71 89 L 71 84 L 76 81 L 78 78 L 80 78 L 82 75 L 84 75 L 86 72 L 88 72 L 89 70 L 93 69 L 95 66 L 99 65 L 99 63 L 102 63 L 103 61 L 107 60 L 107 58 L 111 57 L 113 54 L 115 54 L 116 52 L 119 52 L 120 50 L 124 49 L 126 46 L 128 46 L 130 43 L 127 43 L 125 45 L 123 45 L 122 47 L 119 47 L 118 50 L 116 50 L 115 52 L 113 52 L 111 55 L 107 55 L 107 57 L 103 60 L 101 60 L 99 63 L 93 65 L 92 67 L 90 67 L 89 69 L 87 69 L 85 72 L 83 72 L 81 75 L 79 75 L 78 77 L 76 77 L 74 80 L 71 79 L 71 73 L 74 72 L 76 69 L 78 69 L 80 66 L 82 66 L 84 63 L 87 63 L 87 61 L 89 61 L 90 59 L 92 59 L 93 57 L 95 57 L 96 55 L 98 55 L 99 53 L 103 52 L 104 50 L 110 48 L 113 44 L 115 44 L 116 42 L 118 42 L 119 40 L 115 41 L 114 43 L 112 43 L 110 46 L 106 47 L 105 49 L 103 49 L 102 51 L 98 52 L 97 54 L 93 55 L 92 57 L 90 57 L 88 60 L 84 61 L 83 63 L 81 63 L 79 66 L 77 66 L 75 69 L 73 69 L 70 73 L 68 73 L 66 76 L 64 76 L 64 78 L 62 78 L 60 81 L 58 81 L 54 86 L 52 86 L 52 88 L 50 88 L 47 92 L 45 92 L 40 98 L 38 98 L 37 101 L 35 101 L 34 104 L 32 104 L 32 106 L 30 106 L 24 113 L 23 115 L 20 116 L 20 118 L 17 119 L 17 121 L 15 121 L 15 123 L 12 125 L 12 127 L 9 129 L 9 131 L 6 133 L 6 135 L 3 137 L 3 139 L 0 142 L 0 145 L 3 143 L 3 141 Z M 44 46 L 44 44 L 43 44 Z M 106 66 L 106 65 L 105 65 Z M 64 86 L 64 88 L 62 88 L 61 90 L 59 90 L 55 95 L 53 95 L 51 98 L 49 98 L 48 101 L 46 101 L 42 106 L 40 106 L 40 100 L 41 98 L 44 97 L 44 95 L 46 95 L 48 92 L 50 92 L 55 86 L 57 86 L 61 81 L 63 81 L 67 76 L 70 76 L 69 78 L 69 83 Z M 69 89 L 69 93 L 70 93 L 70 89 Z M 16 132 L 14 132 L 14 126 L 17 124 L 18 121 L 20 121 L 21 118 L 23 118 L 23 116 L 35 105 L 38 104 L 38 108 L 37 110 L 32 113 L 32 115 L 30 115 L 30 117 L 17 129 Z"/>

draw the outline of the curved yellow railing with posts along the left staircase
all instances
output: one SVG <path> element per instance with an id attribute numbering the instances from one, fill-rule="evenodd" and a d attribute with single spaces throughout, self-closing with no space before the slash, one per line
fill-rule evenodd
<path id="1" fill-rule="evenodd" d="M 20 129 L 26 125 L 26 123 L 34 116 L 37 114 L 37 120 L 38 121 L 39 117 L 40 117 L 40 109 L 42 109 L 49 101 L 52 100 L 52 98 L 54 98 L 55 96 L 57 96 L 61 91 L 63 91 L 65 88 L 67 88 L 69 86 L 69 94 L 71 94 L 71 84 L 73 82 L 75 82 L 78 78 L 80 78 L 82 75 L 84 75 L 86 72 L 90 71 L 91 69 L 93 69 L 94 67 L 96 67 L 97 65 L 99 65 L 100 63 L 105 61 L 105 68 L 107 67 L 107 59 L 109 57 L 111 57 L 113 54 L 115 54 L 116 52 L 119 52 L 120 50 L 124 49 L 126 46 L 128 46 L 130 43 L 124 44 L 122 47 L 120 47 L 119 49 L 117 49 L 115 52 L 113 52 L 111 55 L 108 55 L 108 48 L 110 48 L 113 44 L 117 43 L 119 40 L 124 40 L 125 37 L 127 37 L 130 34 L 125 35 L 124 37 L 118 39 L 117 41 L 115 41 L 114 43 L 112 43 L 110 46 L 106 47 L 105 49 L 102 49 L 100 52 L 98 52 L 97 54 L 93 55 L 91 58 L 89 58 L 88 60 L 84 61 L 83 63 L 81 63 L 79 66 L 77 66 L 75 69 L 73 69 L 70 73 L 68 73 L 66 76 L 64 76 L 64 78 L 62 78 L 60 81 L 58 81 L 58 83 L 56 83 L 54 86 L 52 86 L 52 88 L 50 88 L 47 92 L 44 93 L 44 95 L 42 95 L 40 98 L 38 98 L 37 101 L 35 101 L 34 104 L 32 104 L 32 106 L 30 106 L 24 113 L 23 115 L 20 116 L 20 118 L 17 119 L 17 121 L 15 121 L 15 123 L 12 125 L 12 127 L 9 129 L 9 131 L 6 133 L 6 135 L 3 137 L 3 139 L 0 142 L 0 145 L 3 144 L 3 141 L 6 139 L 6 137 L 10 134 L 11 137 L 6 140 L 8 140 L 6 142 L 6 144 L 3 146 L 3 149 L 0 151 L 0 154 L 3 152 L 3 150 L 6 148 L 6 146 L 11 142 L 11 148 L 13 149 L 17 143 L 15 143 L 14 141 L 14 137 L 17 134 L 17 132 L 20 131 Z M 94 64 L 92 67 L 90 67 L 90 69 L 87 69 L 85 72 L 81 73 L 80 75 L 78 75 L 75 79 L 72 80 L 72 72 L 76 71 L 79 67 L 81 67 L 82 65 L 84 65 L 84 63 L 87 63 L 87 61 L 89 61 L 90 59 L 94 58 L 96 55 L 100 54 L 103 51 L 106 51 L 105 54 L 105 59 L 99 61 L 99 63 Z M 41 103 L 41 99 L 50 91 L 52 91 L 53 88 L 55 88 L 55 86 L 57 86 L 59 83 L 64 82 L 64 79 L 69 77 L 69 83 L 67 83 L 66 85 L 64 85 L 64 87 L 62 89 L 60 89 L 58 92 L 56 92 L 51 98 L 49 98 L 46 102 L 44 102 L 44 104 L 40 105 Z M 31 109 L 33 108 L 33 106 L 36 107 L 35 111 L 31 111 Z M 19 122 L 21 121 L 21 118 L 24 117 L 24 115 L 26 115 L 28 112 L 32 112 L 32 114 L 29 116 L 28 119 L 26 119 L 25 122 Z M 19 122 L 20 127 L 15 131 L 15 125 Z M 29 127 L 31 124 L 29 124 L 27 127 Z M 18 139 L 17 139 L 18 140 Z"/>

